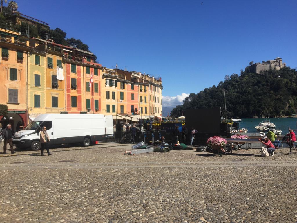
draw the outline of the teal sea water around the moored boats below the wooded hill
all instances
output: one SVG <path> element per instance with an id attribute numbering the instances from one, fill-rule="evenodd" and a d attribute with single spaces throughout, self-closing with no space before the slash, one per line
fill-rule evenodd
<path id="1" fill-rule="evenodd" d="M 260 122 L 265 120 L 270 120 L 271 123 L 276 125 L 275 129 L 282 130 L 282 135 L 288 133 L 288 128 L 290 129 L 297 129 L 297 117 L 296 118 L 270 118 L 270 119 L 263 119 L 263 118 L 244 118 L 242 122 L 239 122 L 240 128 L 247 128 L 248 133 L 258 133 L 255 129 L 255 126 L 259 125 Z M 266 131 L 267 132 L 267 131 Z"/>

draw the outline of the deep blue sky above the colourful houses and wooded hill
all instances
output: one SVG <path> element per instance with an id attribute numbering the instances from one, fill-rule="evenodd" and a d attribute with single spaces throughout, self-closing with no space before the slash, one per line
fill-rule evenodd
<path id="1" fill-rule="evenodd" d="M 16 2 L 89 45 L 103 66 L 161 75 L 166 106 L 250 61 L 281 57 L 297 67 L 297 1 Z"/>

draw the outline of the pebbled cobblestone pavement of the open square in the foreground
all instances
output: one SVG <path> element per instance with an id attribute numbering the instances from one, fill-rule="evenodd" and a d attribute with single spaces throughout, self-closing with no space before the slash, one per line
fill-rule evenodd
<path id="1" fill-rule="evenodd" d="M 123 155 L 130 148 L 0 154 L 1 222 L 297 222 L 296 151 Z"/>

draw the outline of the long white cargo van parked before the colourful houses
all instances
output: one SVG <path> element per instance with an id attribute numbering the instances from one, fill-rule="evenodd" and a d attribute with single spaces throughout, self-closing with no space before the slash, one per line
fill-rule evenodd
<path id="1" fill-rule="evenodd" d="M 112 115 L 103 114 L 41 114 L 24 130 L 15 133 L 13 144 L 19 148 L 39 150 L 40 131 L 45 126 L 50 137 L 49 145 L 83 143 L 104 139 L 113 134 Z"/>

